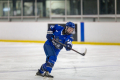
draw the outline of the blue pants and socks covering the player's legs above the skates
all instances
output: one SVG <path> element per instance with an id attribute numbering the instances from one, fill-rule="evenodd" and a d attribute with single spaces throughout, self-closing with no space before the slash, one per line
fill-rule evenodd
<path id="1" fill-rule="evenodd" d="M 40 68 L 40 73 L 44 73 L 45 71 L 48 71 L 51 73 L 52 68 L 57 60 L 55 49 L 47 44 L 44 44 L 44 51 L 46 54 L 46 63 L 44 63 Z"/>

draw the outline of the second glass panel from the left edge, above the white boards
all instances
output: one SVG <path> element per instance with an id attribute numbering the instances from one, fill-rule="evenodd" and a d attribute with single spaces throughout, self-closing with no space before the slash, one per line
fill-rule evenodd
<path id="1" fill-rule="evenodd" d="M 10 0 L 10 16 L 21 16 L 21 0 Z"/>

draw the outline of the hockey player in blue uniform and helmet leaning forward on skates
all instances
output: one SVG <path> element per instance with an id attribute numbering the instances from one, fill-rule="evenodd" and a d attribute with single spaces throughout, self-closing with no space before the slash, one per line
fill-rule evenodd
<path id="1" fill-rule="evenodd" d="M 72 41 L 73 41 L 73 31 L 75 29 L 75 24 L 73 22 L 67 22 L 65 27 L 55 24 L 54 26 L 51 25 L 47 31 L 47 41 L 44 44 L 44 51 L 46 54 L 46 63 L 44 63 L 40 69 L 38 69 L 36 75 L 42 77 L 50 77 L 52 68 L 57 60 L 57 56 L 61 49 L 63 48 L 62 45 L 57 43 L 53 40 L 56 39 L 57 41 L 66 45 L 65 49 L 69 51 L 72 48 Z"/>

